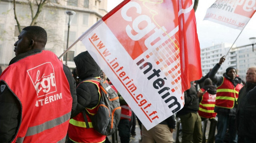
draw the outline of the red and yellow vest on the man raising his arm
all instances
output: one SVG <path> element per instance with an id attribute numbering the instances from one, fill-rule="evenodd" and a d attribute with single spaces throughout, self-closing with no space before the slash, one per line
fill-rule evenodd
<path id="1" fill-rule="evenodd" d="M 215 106 L 222 108 L 233 108 L 235 101 L 237 101 L 238 93 L 242 88 L 242 84 L 234 84 L 225 77 L 223 77 L 223 82 L 217 87 L 216 103 Z"/>

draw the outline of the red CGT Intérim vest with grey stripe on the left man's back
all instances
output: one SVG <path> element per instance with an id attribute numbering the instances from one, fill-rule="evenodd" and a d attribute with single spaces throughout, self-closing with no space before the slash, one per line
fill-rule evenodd
<path id="1" fill-rule="evenodd" d="M 20 59 L 0 76 L 21 104 L 21 123 L 12 143 L 64 143 L 72 96 L 63 64 L 50 51 Z"/>

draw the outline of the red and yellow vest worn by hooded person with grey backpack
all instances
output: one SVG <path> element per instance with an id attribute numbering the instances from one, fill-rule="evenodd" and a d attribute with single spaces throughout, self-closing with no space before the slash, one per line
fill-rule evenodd
<path id="1" fill-rule="evenodd" d="M 92 82 L 97 85 L 100 94 L 100 83 L 95 80 L 85 80 L 83 82 Z M 100 98 L 99 98 L 100 101 Z M 86 110 L 94 115 L 97 113 L 98 104 L 94 108 L 86 108 Z M 86 114 L 89 123 L 89 128 L 86 127 L 84 116 L 80 112 L 76 117 L 70 119 L 68 126 L 68 137 L 75 143 L 102 143 L 105 141 L 106 136 L 98 133 L 92 125 L 92 120 Z"/>

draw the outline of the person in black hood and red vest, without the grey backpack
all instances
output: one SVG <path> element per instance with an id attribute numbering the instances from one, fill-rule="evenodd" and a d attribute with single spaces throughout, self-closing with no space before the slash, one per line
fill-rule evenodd
<path id="1" fill-rule="evenodd" d="M 100 98 L 98 86 L 92 82 L 86 82 L 86 80 L 89 78 L 99 79 L 101 69 L 88 51 L 82 52 L 74 57 L 74 62 L 76 64 L 77 76 L 79 76 L 81 82 L 76 87 L 78 104 L 74 114 L 71 114 L 71 118 L 73 118 L 73 121 L 79 120 L 86 125 L 85 120 L 87 119 L 88 122 L 90 122 L 90 118 L 85 115 L 85 109 L 97 108 Z M 84 116 L 80 116 L 81 114 L 84 114 Z M 70 123 L 68 136 L 70 143 L 78 141 L 83 143 L 102 143 L 106 139 L 106 136 L 98 133 L 92 126 L 89 125 L 89 127 L 87 127 L 86 125 L 86 127 L 81 127 L 81 125 L 75 123 Z"/>

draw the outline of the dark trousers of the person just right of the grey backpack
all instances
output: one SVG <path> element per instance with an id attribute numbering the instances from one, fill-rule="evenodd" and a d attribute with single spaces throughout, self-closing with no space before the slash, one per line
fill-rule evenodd
<path id="1" fill-rule="evenodd" d="M 118 124 L 118 131 L 121 143 L 130 142 L 130 121 L 129 119 L 120 119 Z"/>

